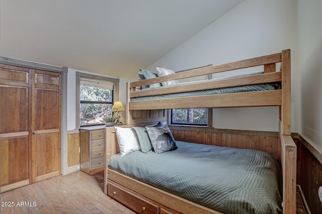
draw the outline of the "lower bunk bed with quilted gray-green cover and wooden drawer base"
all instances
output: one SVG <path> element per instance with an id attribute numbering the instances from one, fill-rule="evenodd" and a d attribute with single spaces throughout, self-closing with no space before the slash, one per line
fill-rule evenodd
<path id="1" fill-rule="evenodd" d="M 177 141 L 174 150 L 121 157 L 114 127 L 106 137 L 105 193 L 138 213 L 282 213 L 288 175 L 267 152 Z M 294 148 L 280 137 L 285 169 Z"/>

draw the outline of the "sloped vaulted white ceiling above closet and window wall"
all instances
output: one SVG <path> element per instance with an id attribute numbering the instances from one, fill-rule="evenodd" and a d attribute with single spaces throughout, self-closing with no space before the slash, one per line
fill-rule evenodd
<path id="1" fill-rule="evenodd" d="M 0 55 L 131 79 L 243 0 L 1 0 Z"/>

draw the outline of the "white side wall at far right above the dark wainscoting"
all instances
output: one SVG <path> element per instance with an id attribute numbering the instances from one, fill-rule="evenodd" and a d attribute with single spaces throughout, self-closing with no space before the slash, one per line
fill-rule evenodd
<path id="1" fill-rule="evenodd" d="M 322 1 L 298 0 L 299 133 L 322 153 Z"/>

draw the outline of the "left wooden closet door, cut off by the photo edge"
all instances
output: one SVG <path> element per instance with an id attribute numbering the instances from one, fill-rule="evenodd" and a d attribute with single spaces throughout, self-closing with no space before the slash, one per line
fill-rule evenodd
<path id="1" fill-rule="evenodd" d="M 30 183 L 30 70 L 0 64 L 0 189 Z"/>

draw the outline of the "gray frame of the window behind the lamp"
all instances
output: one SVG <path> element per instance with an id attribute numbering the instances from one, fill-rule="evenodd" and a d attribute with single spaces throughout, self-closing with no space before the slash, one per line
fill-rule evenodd
<path id="1" fill-rule="evenodd" d="M 113 100 L 112 104 L 119 100 L 119 83 L 120 79 L 117 78 L 111 78 L 106 76 L 99 76 L 94 74 L 88 74 L 88 73 L 82 73 L 82 72 L 76 72 L 76 103 L 75 103 L 75 127 L 76 129 L 79 129 L 81 127 L 88 127 L 88 126 L 98 126 L 102 124 L 93 124 L 93 125 L 85 125 L 81 126 L 81 79 L 87 79 L 87 80 L 93 80 L 93 81 L 105 81 L 109 83 L 113 83 Z"/>

